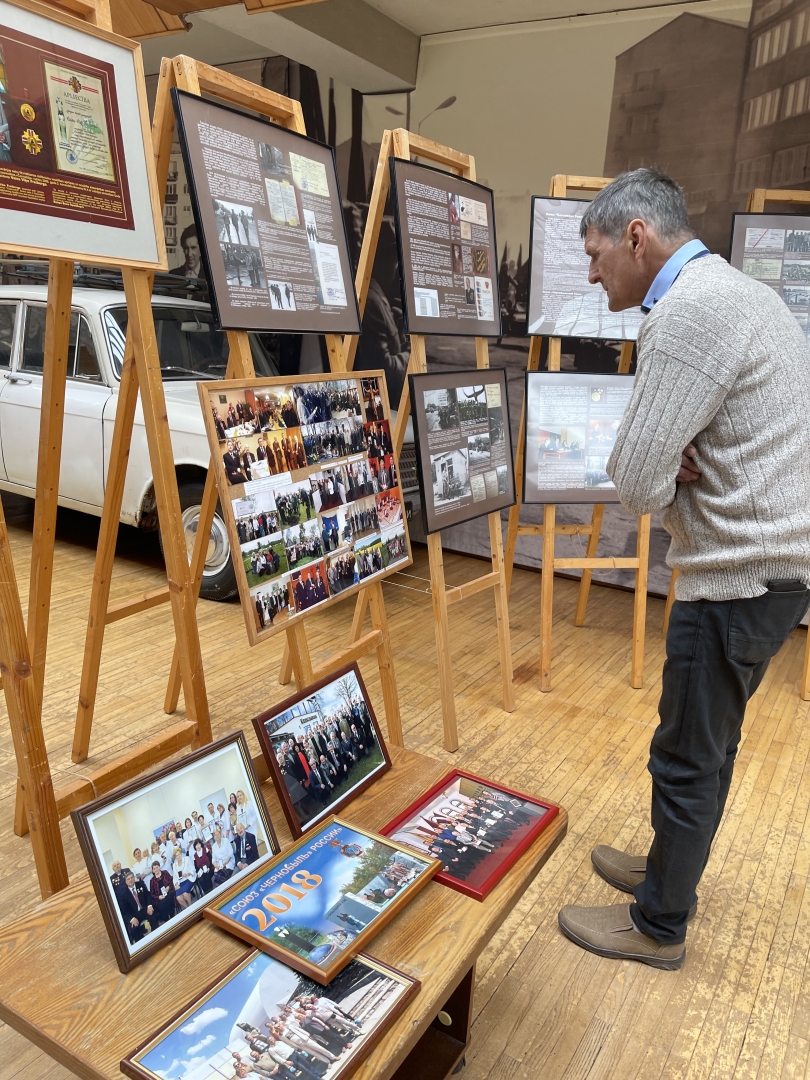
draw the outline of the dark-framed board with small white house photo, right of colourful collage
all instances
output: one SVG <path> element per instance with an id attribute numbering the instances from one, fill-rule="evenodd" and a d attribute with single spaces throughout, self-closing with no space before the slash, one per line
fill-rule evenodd
<path id="1" fill-rule="evenodd" d="M 514 455 L 512 453 L 512 427 L 509 415 L 509 384 L 505 369 L 502 367 L 473 367 L 469 369 L 458 369 L 451 372 L 429 372 L 408 376 L 410 390 L 410 410 L 414 421 L 414 438 L 416 441 L 416 464 L 417 477 L 419 481 L 419 494 L 422 500 L 424 531 L 426 534 L 438 532 L 449 528 L 451 525 L 460 525 L 462 522 L 473 521 L 475 517 L 483 517 L 486 514 L 498 513 L 513 507 L 516 501 Z M 475 420 L 465 421 L 461 418 L 458 407 L 458 391 L 471 384 L 481 384 L 484 389 L 485 415 L 483 419 L 475 423 Z M 496 387 L 499 391 L 500 405 L 489 407 L 490 395 L 487 387 Z M 426 393 L 441 395 L 450 393 L 456 399 L 454 415 L 447 419 L 438 415 L 438 407 L 434 406 L 428 411 L 426 404 Z M 500 410 L 500 411 L 498 411 Z M 435 414 L 435 415 L 434 415 Z M 450 424 L 443 428 L 444 422 Z M 486 432 L 481 433 L 482 424 L 486 424 Z M 458 431 L 454 440 L 453 432 Z M 496 438 L 500 436 L 503 444 L 502 449 L 492 450 Z M 482 457 L 489 458 L 489 469 L 481 467 L 473 473 L 474 467 L 471 455 L 474 451 L 474 444 L 482 438 L 486 442 L 485 454 Z M 435 445 L 437 444 L 437 445 Z M 436 483 L 434 469 L 441 468 L 440 461 L 446 458 L 460 458 L 463 462 L 467 476 L 465 485 L 469 489 L 467 494 L 458 499 L 450 498 L 446 510 L 436 511 Z M 436 459 L 434 461 L 434 459 Z M 501 460 L 502 459 L 502 460 Z M 451 467 L 450 462 L 450 467 Z M 500 475 L 500 470 L 504 470 L 504 475 Z M 484 488 L 483 498 L 476 500 L 476 491 L 473 483 L 477 481 L 476 489 Z M 501 481 L 505 490 L 501 492 Z M 489 495 L 488 489 L 496 487 L 496 494 Z M 459 505 L 453 507 L 453 502 Z"/>

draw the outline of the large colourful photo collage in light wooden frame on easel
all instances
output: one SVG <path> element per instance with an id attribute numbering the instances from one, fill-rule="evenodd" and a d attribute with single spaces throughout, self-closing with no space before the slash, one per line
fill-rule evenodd
<path id="1" fill-rule="evenodd" d="M 377 380 L 379 391 L 378 415 L 381 413 L 381 418 L 374 420 L 368 419 L 368 406 L 362 388 L 362 383 L 367 383 L 369 379 Z M 359 411 L 351 416 L 335 418 L 329 409 L 333 417 L 330 420 L 319 420 L 312 424 L 302 423 L 299 420 L 298 427 L 294 427 L 293 417 L 296 416 L 296 413 L 292 400 L 296 389 L 329 387 L 335 383 L 349 388 L 347 393 L 353 390 L 356 401 L 353 402 L 352 407 L 356 405 Z M 400 487 L 399 455 L 394 453 L 391 411 L 383 372 L 325 372 L 316 375 L 199 382 L 198 393 L 211 446 L 219 502 L 228 528 L 242 613 L 251 645 L 256 645 L 258 642 L 264 642 L 274 634 L 288 630 L 294 624 L 300 623 L 311 612 L 323 611 L 347 596 L 356 595 L 364 586 L 378 582 L 391 573 L 397 573 L 410 565 L 410 538 L 405 503 Z M 251 399 L 258 409 L 257 399 L 259 397 L 264 397 L 266 402 L 269 399 L 273 399 L 276 403 L 287 402 L 293 411 L 287 409 L 286 414 L 283 410 L 273 414 L 274 419 L 271 422 L 275 424 L 278 419 L 278 422 L 282 424 L 280 427 L 267 428 L 261 424 L 258 417 L 256 422 L 226 426 L 226 420 L 231 422 L 234 418 L 238 419 L 235 414 L 226 413 L 227 409 L 230 409 L 231 406 L 235 408 L 240 404 L 242 406 L 249 405 Z M 254 406 L 251 408 L 253 409 Z M 276 405 L 274 404 L 272 408 L 276 409 Z M 214 416 L 214 409 L 217 409 L 219 427 Z M 336 409 L 335 411 L 345 413 L 347 410 Z M 284 423 L 280 419 L 283 415 L 287 416 L 289 423 Z M 387 433 L 388 442 L 384 445 L 391 445 L 391 453 L 386 451 L 382 455 L 377 455 L 374 458 L 376 465 L 373 464 L 369 448 L 349 450 L 328 459 L 321 458 L 311 461 L 311 455 L 307 451 L 309 429 L 320 427 L 325 429 L 330 423 L 346 423 L 351 428 L 350 420 L 360 422 L 363 429 L 363 438 L 366 442 L 369 442 L 370 437 L 370 432 L 367 429 Z M 259 430 L 245 433 L 244 429 L 251 427 L 254 429 L 258 427 Z M 238 433 L 228 435 L 228 431 Z M 281 447 L 286 442 L 289 443 L 288 450 L 282 451 Z M 259 480 L 256 480 L 251 472 L 248 480 L 243 465 L 244 456 L 249 453 L 257 458 L 260 444 L 264 446 L 266 455 L 261 461 L 260 476 Z M 273 447 L 276 446 L 279 449 L 273 451 Z M 289 464 L 294 447 L 296 468 L 292 468 Z M 233 461 L 234 463 L 234 468 L 230 472 L 226 470 L 225 457 L 228 457 L 229 462 Z M 254 460 L 253 464 L 256 465 L 257 461 Z M 362 474 L 367 481 L 362 486 L 355 487 L 353 492 L 350 491 L 352 473 Z M 315 491 L 319 481 L 322 484 L 333 485 L 334 496 L 330 497 L 328 507 Z M 313 482 L 315 486 L 313 486 Z M 343 486 L 342 496 L 338 494 L 340 485 Z M 356 494 L 361 489 L 364 494 Z M 305 498 L 305 490 L 309 492 L 306 496 L 309 500 L 308 504 L 301 501 Z M 350 494 L 351 498 L 349 498 Z M 285 524 L 284 515 L 281 512 L 275 514 L 272 509 L 278 509 L 276 496 L 279 500 L 295 498 L 292 505 L 296 509 L 293 516 L 287 518 L 288 524 Z M 333 498 L 337 501 L 333 501 Z M 254 539 L 243 543 L 237 528 L 237 514 L 241 513 L 240 508 L 248 499 L 255 500 L 257 504 L 265 500 L 262 512 L 270 514 L 271 517 L 273 514 L 275 516 L 272 523 L 269 523 L 269 527 L 273 529 L 272 532 L 259 540 Z M 383 517 L 383 508 L 393 507 L 395 510 L 397 504 L 399 515 L 390 514 L 388 518 Z M 368 530 L 362 528 L 356 531 L 350 530 L 350 540 L 341 541 L 337 549 L 325 551 L 321 537 L 326 527 L 326 518 L 336 523 L 336 528 L 339 527 L 342 536 L 348 516 L 361 510 L 364 513 L 373 513 L 376 525 L 372 525 Z M 341 514 L 343 524 L 340 524 Z M 306 531 L 309 542 L 320 543 L 320 553 L 306 556 L 303 563 L 291 563 L 288 557 L 289 534 L 295 529 L 299 530 L 299 538 Z M 266 580 L 256 578 L 257 583 L 251 584 L 245 557 L 249 559 L 254 545 L 261 548 L 262 539 L 266 541 L 264 544 L 266 553 L 270 552 L 271 546 L 276 545 L 274 548 L 275 554 L 271 557 L 278 557 L 279 562 L 276 568 L 270 576 L 267 576 Z M 318 550 L 316 546 L 315 550 Z M 333 589 L 329 571 L 334 568 L 335 561 L 345 554 L 352 565 L 356 566 L 361 552 L 364 553 L 366 561 L 376 559 L 379 556 L 382 568 L 364 576 L 357 575 L 357 580 L 351 583 L 346 581 L 339 589 Z M 395 556 L 392 555 L 392 552 L 396 553 Z M 387 556 L 388 564 L 386 564 Z M 299 592 L 301 594 L 300 602 Z M 312 596 L 321 598 L 311 599 Z M 261 599 L 262 604 L 261 613 L 258 610 L 258 599 Z M 271 603 L 272 607 L 269 606 Z M 274 610 L 272 616 L 269 613 L 270 610 Z"/>

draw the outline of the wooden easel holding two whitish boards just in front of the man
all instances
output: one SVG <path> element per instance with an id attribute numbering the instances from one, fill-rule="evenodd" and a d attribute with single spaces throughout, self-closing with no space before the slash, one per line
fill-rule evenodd
<path id="1" fill-rule="evenodd" d="M 609 178 L 596 176 L 552 176 L 549 195 L 552 199 L 565 199 L 568 191 L 600 191 L 610 184 Z M 540 347 L 542 338 L 532 337 L 529 346 L 527 370 L 537 372 L 540 367 Z M 549 370 L 559 370 L 561 338 L 549 338 Z M 622 345 L 619 360 L 619 374 L 630 370 L 633 355 L 633 342 Z M 638 539 L 636 554 L 633 558 L 597 558 L 596 550 L 602 531 L 602 519 L 605 515 L 604 503 L 596 503 L 590 525 L 557 525 L 556 505 L 550 503 L 543 507 L 543 519 L 539 525 L 521 525 L 521 497 L 523 494 L 523 476 L 525 469 L 524 442 L 526 437 L 526 402 L 521 410 L 521 430 L 517 436 L 515 454 L 515 486 L 517 502 L 509 512 L 507 526 L 507 589 L 512 586 L 512 569 L 515 559 L 515 546 L 518 536 L 542 536 L 543 565 L 540 585 L 540 689 L 551 690 L 551 636 L 552 615 L 554 604 L 554 570 L 582 570 L 579 586 L 577 610 L 573 625 L 581 626 L 585 621 L 588 596 L 591 590 L 591 579 L 594 570 L 632 569 L 636 571 L 635 600 L 633 605 L 633 645 L 630 665 L 630 685 L 639 689 L 644 683 L 644 638 L 647 618 L 647 573 L 650 549 L 650 518 L 644 514 L 638 518 Z M 554 554 L 555 539 L 558 536 L 586 536 L 585 555 L 578 558 L 557 558 Z"/>

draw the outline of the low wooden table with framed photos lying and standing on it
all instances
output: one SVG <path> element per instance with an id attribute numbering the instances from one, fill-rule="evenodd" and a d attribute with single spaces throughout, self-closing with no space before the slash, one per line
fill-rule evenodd
<path id="1" fill-rule="evenodd" d="M 373 831 L 447 772 L 421 754 L 390 751 L 393 768 L 342 815 Z M 264 792 L 286 846 L 272 784 Z M 370 955 L 419 978 L 421 990 L 356 1080 L 444 1080 L 453 1071 L 470 1037 L 475 960 L 565 836 L 567 820 L 561 811 L 483 903 L 431 881 L 375 937 Z M 122 975 L 90 878 L 82 876 L 0 930 L 0 1018 L 76 1076 L 110 1080 L 121 1076 L 125 1054 L 243 955 L 242 942 L 201 919 Z"/>

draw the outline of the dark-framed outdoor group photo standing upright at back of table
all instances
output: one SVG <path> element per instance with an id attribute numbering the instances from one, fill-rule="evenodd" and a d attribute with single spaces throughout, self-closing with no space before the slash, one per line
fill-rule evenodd
<path id="1" fill-rule="evenodd" d="M 357 691 L 362 696 L 363 704 L 365 705 L 365 708 L 368 713 L 368 720 L 372 725 L 373 738 L 372 740 L 369 740 L 369 742 L 373 742 L 376 739 L 377 746 L 379 747 L 378 753 L 379 756 L 381 757 L 381 761 L 374 768 L 372 772 L 365 773 L 363 778 L 354 786 L 346 791 L 334 802 L 325 802 L 323 809 L 320 812 L 316 812 L 311 818 L 307 819 L 306 821 L 302 821 L 301 820 L 302 814 L 300 813 L 300 810 L 302 809 L 301 804 L 305 801 L 306 798 L 311 797 L 311 792 L 310 791 L 306 792 L 305 797 L 302 799 L 298 801 L 294 800 L 293 792 L 296 792 L 296 794 L 298 794 L 295 784 L 297 784 L 298 788 L 303 789 L 303 785 L 301 783 L 302 778 L 299 777 L 296 779 L 293 775 L 289 777 L 289 779 L 285 779 L 285 775 L 288 774 L 285 774 L 282 771 L 280 762 L 276 758 L 276 752 L 274 750 L 271 735 L 274 735 L 275 732 L 284 731 L 289 725 L 294 724 L 298 717 L 302 718 L 306 715 L 312 715 L 312 708 L 310 708 L 309 714 L 306 712 L 307 705 L 305 703 L 309 704 L 310 702 L 313 701 L 313 699 L 318 699 L 319 696 L 325 698 L 326 694 L 323 694 L 324 690 L 335 687 L 337 684 L 340 684 L 341 680 L 343 679 L 351 680 L 352 678 L 354 679 Z M 336 696 L 338 694 L 340 694 L 340 688 L 336 690 Z M 351 697 L 349 686 L 346 686 L 346 697 L 347 698 Z M 345 704 L 348 707 L 349 704 L 348 700 L 346 700 Z M 292 711 L 295 710 L 296 705 L 300 705 L 302 711 L 299 711 L 297 715 L 293 715 Z M 320 714 L 323 716 L 322 712 L 323 706 L 320 701 L 315 701 L 314 707 L 318 708 Z M 280 724 L 276 728 L 273 729 L 273 731 L 268 730 L 269 724 L 271 724 L 274 719 L 281 718 L 284 714 L 287 713 L 291 713 L 288 719 L 285 719 L 284 723 Z M 253 726 L 256 731 L 256 737 L 259 740 L 259 746 L 261 747 L 261 753 L 264 754 L 268 769 L 270 770 L 270 775 L 272 777 L 273 785 L 275 786 L 275 793 L 279 796 L 279 801 L 281 802 L 281 808 L 284 811 L 284 816 L 287 819 L 287 824 L 289 825 L 289 831 L 292 832 L 294 838 L 303 836 L 305 833 L 308 833 L 311 828 L 314 828 L 320 821 L 322 821 L 329 814 L 340 813 L 340 811 L 345 807 L 347 807 L 354 798 L 356 798 L 356 796 L 360 795 L 361 792 L 364 792 L 379 777 L 381 777 L 383 772 L 387 772 L 391 768 L 391 757 L 388 753 L 388 747 L 386 746 L 386 741 L 382 737 L 382 731 L 380 730 L 379 723 L 377 721 L 374 707 L 372 706 L 372 702 L 368 697 L 368 691 L 366 690 L 366 685 L 363 681 L 363 676 L 360 672 L 360 667 L 357 666 L 356 661 L 354 661 L 351 664 L 347 664 L 346 666 L 340 667 L 335 672 L 332 672 L 324 678 L 319 679 L 318 683 L 312 683 L 310 686 L 305 687 L 305 689 L 299 691 L 298 693 L 294 693 L 291 694 L 289 698 L 285 698 L 284 701 L 282 701 L 279 705 L 274 705 L 272 708 L 268 708 L 264 713 L 260 713 L 258 716 L 255 716 L 253 718 Z M 341 730 L 345 729 L 341 728 Z M 365 732 L 361 730 L 361 735 L 363 735 L 364 733 Z M 328 753 L 328 742 L 327 742 L 327 753 Z M 372 753 L 374 753 L 373 748 L 369 751 L 368 755 L 365 756 L 370 756 Z M 338 757 L 338 764 L 346 765 L 349 768 L 349 770 L 353 768 L 353 766 L 349 762 L 346 762 L 345 759 L 341 761 L 340 757 Z M 363 761 L 363 758 L 360 758 L 356 764 L 363 765 L 365 762 Z M 348 778 L 349 779 L 351 778 L 351 771 L 349 771 Z M 293 783 L 293 781 L 295 783 Z M 296 810 L 297 807 L 299 808 L 298 811 Z"/>

